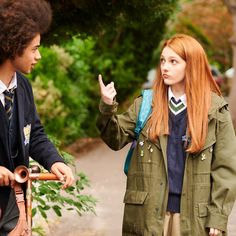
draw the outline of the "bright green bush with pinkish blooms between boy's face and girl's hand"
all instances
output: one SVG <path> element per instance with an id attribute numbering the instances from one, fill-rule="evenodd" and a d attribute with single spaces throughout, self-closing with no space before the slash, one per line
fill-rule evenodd
<path id="1" fill-rule="evenodd" d="M 92 42 L 76 41 L 68 44 L 80 50 L 79 57 L 64 48 L 42 47 L 42 61 L 31 74 L 37 110 L 46 132 L 62 140 L 64 144 L 86 136 L 82 124 L 89 117 L 89 97 L 93 86 L 88 58 L 92 54 Z M 88 47 L 87 47 L 88 46 Z M 84 49 L 84 54 L 82 54 Z"/>

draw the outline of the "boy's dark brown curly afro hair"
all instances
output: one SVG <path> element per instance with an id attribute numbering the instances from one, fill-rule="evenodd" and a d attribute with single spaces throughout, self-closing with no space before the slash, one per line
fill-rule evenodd
<path id="1" fill-rule="evenodd" d="M 51 21 L 45 0 L 0 0 L 0 65 L 22 55 L 38 33 L 46 33 Z"/>

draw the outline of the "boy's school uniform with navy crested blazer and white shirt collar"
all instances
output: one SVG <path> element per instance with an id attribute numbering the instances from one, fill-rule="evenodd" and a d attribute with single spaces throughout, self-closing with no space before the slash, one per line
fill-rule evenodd
<path id="1" fill-rule="evenodd" d="M 0 166 L 4 166 L 14 172 L 18 165 L 28 167 L 29 157 L 33 158 L 47 170 L 50 170 L 55 162 L 64 162 L 44 133 L 43 126 L 36 112 L 32 87 L 29 81 L 17 72 L 8 89 L 10 88 L 14 89 L 14 102 L 12 118 L 9 121 L 4 108 L 4 84 L 1 82 Z M 1 230 L 4 228 L 1 224 L 2 220 L 5 219 L 4 214 L 9 210 L 7 205 L 9 205 L 11 192 L 12 190 L 9 186 L 0 187 L 1 235 L 3 235 Z"/>

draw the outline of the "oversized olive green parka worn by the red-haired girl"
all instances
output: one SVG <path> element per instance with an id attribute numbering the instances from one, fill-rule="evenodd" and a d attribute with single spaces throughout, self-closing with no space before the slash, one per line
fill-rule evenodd
<path id="1" fill-rule="evenodd" d="M 142 97 L 123 114 L 118 104 L 100 103 L 97 126 L 113 150 L 134 139 L 134 128 Z M 228 216 L 236 196 L 236 137 L 228 105 L 212 94 L 208 135 L 203 149 L 188 154 L 181 195 L 181 235 L 209 235 L 217 228 L 227 235 Z M 152 142 L 147 125 L 133 152 L 124 196 L 123 236 L 162 236 L 168 200 L 167 136 Z"/>

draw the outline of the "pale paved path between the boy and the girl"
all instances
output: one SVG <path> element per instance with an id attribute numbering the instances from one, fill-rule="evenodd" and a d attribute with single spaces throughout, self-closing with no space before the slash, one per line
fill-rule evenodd
<path id="1" fill-rule="evenodd" d="M 91 180 L 88 193 L 99 201 L 97 215 L 90 213 L 79 217 L 65 212 L 62 218 L 49 225 L 48 236 L 121 236 L 126 181 L 123 163 L 128 148 L 114 152 L 98 143 L 96 148 L 77 156 L 77 169 Z M 228 236 L 236 236 L 236 204 L 229 219 Z"/>

